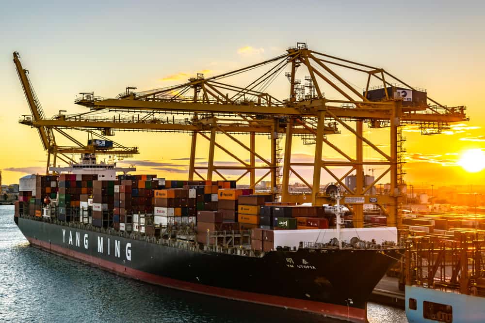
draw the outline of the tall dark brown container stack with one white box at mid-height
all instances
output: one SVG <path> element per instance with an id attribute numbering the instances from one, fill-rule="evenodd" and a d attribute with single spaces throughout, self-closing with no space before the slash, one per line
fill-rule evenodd
<path id="1" fill-rule="evenodd" d="M 109 228 L 113 224 L 114 181 L 93 181 L 93 225 Z"/>

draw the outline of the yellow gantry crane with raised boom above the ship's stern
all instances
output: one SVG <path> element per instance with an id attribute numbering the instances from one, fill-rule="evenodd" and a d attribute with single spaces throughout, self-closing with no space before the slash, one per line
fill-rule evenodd
<path id="1" fill-rule="evenodd" d="M 35 91 L 32 86 L 32 82 L 28 76 L 29 71 L 22 68 L 22 64 L 19 60 L 18 52 L 14 52 L 14 63 L 16 66 L 17 74 L 20 79 L 20 83 L 25 93 L 25 97 L 29 104 L 29 108 L 32 112 L 32 115 L 24 115 L 20 119 L 20 123 L 31 125 L 33 122 L 41 122 L 46 120 L 44 115 L 44 111 L 40 105 L 39 99 L 35 94 Z M 114 148 L 111 149 L 98 149 L 94 144 L 91 145 L 84 145 L 79 140 L 71 136 L 70 134 L 66 133 L 64 130 L 56 128 L 55 126 L 51 125 L 43 125 L 37 126 L 37 130 L 39 132 L 39 136 L 42 142 L 42 146 L 44 150 L 47 151 L 47 169 L 46 173 L 49 174 L 49 166 L 50 164 L 50 157 L 53 156 L 53 163 L 52 166 L 56 165 L 56 159 L 59 158 L 65 163 L 76 162 L 70 155 L 74 154 L 111 154 L 119 156 L 120 158 L 131 157 L 133 154 L 138 154 L 138 148 L 128 148 L 121 146 L 120 144 L 113 143 Z M 74 142 L 76 146 L 59 146 L 56 143 L 56 138 L 54 136 L 54 130 L 59 132 L 62 136 L 69 139 L 70 141 Z M 107 139 L 101 135 L 95 134 L 92 131 L 84 130 L 88 133 L 88 138 L 91 138 L 91 142 L 94 142 L 94 138 L 100 139 Z"/>

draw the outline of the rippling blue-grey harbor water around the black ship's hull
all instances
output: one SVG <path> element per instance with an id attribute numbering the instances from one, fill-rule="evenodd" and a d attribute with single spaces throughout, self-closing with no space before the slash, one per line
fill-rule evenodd
<path id="1" fill-rule="evenodd" d="M 370 303 L 369 322 L 407 322 Z M 29 246 L 0 206 L 0 322 L 342 322 L 153 286 Z"/>

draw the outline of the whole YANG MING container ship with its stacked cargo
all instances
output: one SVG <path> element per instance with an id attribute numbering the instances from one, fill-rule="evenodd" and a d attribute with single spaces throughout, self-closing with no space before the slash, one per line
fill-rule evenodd
<path id="1" fill-rule="evenodd" d="M 20 181 L 15 222 L 31 245 L 152 284 L 367 322 L 368 297 L 404 250 L 396 228 L 343 228 L 339 198 L 290 205 L 92 155 L 53 170 Z"/>

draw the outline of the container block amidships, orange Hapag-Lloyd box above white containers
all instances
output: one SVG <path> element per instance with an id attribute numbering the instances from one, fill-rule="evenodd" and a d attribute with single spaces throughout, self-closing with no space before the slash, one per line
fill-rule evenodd
<path id="1" fill-rule="evenodd" d="M 157 227 L 195 224 L 196 189 L 167 188 L 155 190 L 154 195 L 154 224 Z"/>

